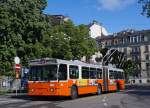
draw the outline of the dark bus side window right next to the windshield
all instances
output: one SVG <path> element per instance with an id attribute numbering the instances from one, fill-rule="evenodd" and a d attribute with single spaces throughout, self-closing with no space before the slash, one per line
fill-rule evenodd
<path id="1" fill-rule="evenodd" d="M 58 79 L 67 80 L 67 65 L 66 64 L 59 65 Z"/>

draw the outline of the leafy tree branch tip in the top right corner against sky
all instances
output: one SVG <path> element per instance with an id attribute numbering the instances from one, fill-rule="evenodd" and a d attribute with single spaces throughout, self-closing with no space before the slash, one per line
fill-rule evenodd
<path id="1" fill-rule="evenodd" d="M 142 4 L 142 15 L 150 17 L 150 0 L 139 0 L 139 3 Z"/>

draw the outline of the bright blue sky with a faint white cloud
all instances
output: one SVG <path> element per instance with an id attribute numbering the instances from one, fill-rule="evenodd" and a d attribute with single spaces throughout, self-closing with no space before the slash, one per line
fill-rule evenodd
<path id="1" fill-rule="evenodd" d="M 88 25 L 96 20 L 109 33 L 126 29 L 150 29 L 150 18 L 141 15 L 138 0 L 47 0 L 44 13 L 69 16 L 74 24 Z"/>

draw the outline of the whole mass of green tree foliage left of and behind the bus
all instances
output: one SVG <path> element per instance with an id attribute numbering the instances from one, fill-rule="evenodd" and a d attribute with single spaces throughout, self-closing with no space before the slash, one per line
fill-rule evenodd
<path id="1" fill-rule="evenodd" d="M 80 59 L 95 52 L 86 25 L 71 20 L 51 26 L 46 0 L 0 0 L 0 74 L 13 75 L 14 57 L 23 66 L 36 58 Z"/>

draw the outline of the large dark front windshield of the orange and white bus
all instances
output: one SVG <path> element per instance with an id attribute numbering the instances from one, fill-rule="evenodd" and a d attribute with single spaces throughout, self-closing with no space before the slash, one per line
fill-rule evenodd
<path id="1" fill-rule="evenodd" d="M 57 80 L 57 65 L 31 66 L 29 81 Z"/>

